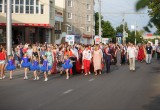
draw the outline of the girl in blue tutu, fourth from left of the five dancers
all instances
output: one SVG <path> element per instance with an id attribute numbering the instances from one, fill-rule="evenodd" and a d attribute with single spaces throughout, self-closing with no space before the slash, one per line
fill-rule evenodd
<path id="1" fill-rule="evenodd" d="M 44 55 L 43 56 L 43 65 L 41 67 L 41 71 L 44 73 L 44 78 L 45 80 L 44 81 L 48 81 L 48 76 L 47 76 L 47 73 L 48 71 L 50 71 L 52 69 L 52 66 L 49 66 L 49 62 L 47 60 L 47 56 Z"/>

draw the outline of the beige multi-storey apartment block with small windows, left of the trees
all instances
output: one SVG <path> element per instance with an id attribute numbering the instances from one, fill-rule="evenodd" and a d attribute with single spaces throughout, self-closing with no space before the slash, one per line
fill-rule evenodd
<path id="1" fill-rule="evenodd" d="M 65 1 L 65 30 L 76 35 L 75 41 L 91 44 L 94 35 L 94 0 Z"/>

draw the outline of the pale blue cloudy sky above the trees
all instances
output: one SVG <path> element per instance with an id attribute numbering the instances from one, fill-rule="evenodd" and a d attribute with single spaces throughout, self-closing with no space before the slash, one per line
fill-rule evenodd
<path id="1" fill-rule="evenodd" d="M 122 13 L 136 13 L 135 4 L 138 0 L 101 0 L 102 7 L 101 13 L 104 20 L 108 20 L 115 28 L 122 24 Z M 98 0 L 95 0 L 95 11 L 98 11 Z M 125 22 L 128 23 L 128 27 L 131 29 L 131 25 L 137 24 L 137 29 L 141 30 L 148 24 L 149 16 L 147 14 L 147 8 L 140 10 L 140 13 L 145 14 L 125 14 Z M 112 14 L 111 14 L 112 13 Z M 113 14 L 114 13 L 114 14 Z M 155 32 L 155 28 L 152 32 Z"/>

